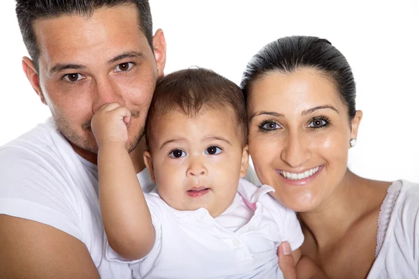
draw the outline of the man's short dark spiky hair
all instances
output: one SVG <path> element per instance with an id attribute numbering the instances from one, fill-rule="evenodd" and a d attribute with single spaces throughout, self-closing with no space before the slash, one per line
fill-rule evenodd
<path id="1" fill-rule="evenodd" d="M 127 4 L 135 4 L 137 7 L 140 31 L 144 33 L 153 49 L 152 13 L 148 0 L 16 0 L 16 15 L 20 32 L 36 70 L 39 70 L 40 50 L 34 32 L 35 20 L 61 15 L 85 15 L 88 17 L 98 8 L 114 8 Z"/>

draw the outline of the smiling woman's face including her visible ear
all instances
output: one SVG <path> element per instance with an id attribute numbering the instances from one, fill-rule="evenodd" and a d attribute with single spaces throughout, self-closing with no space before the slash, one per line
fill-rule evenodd
<path id="1" fill-rule="evenodd" d="M 362 112 L 350 123 L 332 81 L 312 68 L 269 73 L 249 93 L 249 152 L 260 181 L 288 208 L 316 209 L 339 192 Z"/>

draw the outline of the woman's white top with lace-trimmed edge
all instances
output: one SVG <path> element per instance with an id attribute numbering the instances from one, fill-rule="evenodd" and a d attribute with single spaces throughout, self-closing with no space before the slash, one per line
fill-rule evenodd
<path id="1" fill-rule="evenodd" d="M 419 252 L 419 184 L 394 181 L 387 192 L 378 221 L 376 262 L 368 278 L 417 278 L 418 258 L 413 255 Z"/>

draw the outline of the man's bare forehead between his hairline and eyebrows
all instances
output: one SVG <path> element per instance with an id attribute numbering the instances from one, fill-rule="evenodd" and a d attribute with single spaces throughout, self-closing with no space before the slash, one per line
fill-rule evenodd
<path id="1" fill-rule="evenodd" d="M 132 5 L 99 8 L 91 15 L 42 18 L 34 22 L 34 31 L 40 61 L 47 59 L 47 63 L 111 59 L 122 52 L 142 52 L 148 46 Z"/>

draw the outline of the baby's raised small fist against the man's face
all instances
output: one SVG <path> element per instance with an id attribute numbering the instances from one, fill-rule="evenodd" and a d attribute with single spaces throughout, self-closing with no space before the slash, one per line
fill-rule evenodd
<path id="1" fill-rule="evenodd" d="M 123 144 L 128 141 L 128 125 L 131 112 L 118 103 L 101 107 L 91 119 L 91 130 L 99 147 L 104 144 Z"/>

